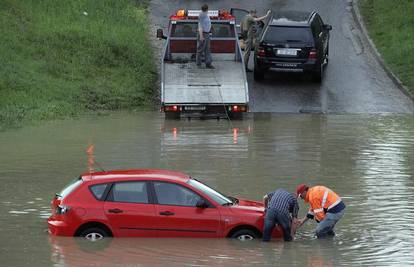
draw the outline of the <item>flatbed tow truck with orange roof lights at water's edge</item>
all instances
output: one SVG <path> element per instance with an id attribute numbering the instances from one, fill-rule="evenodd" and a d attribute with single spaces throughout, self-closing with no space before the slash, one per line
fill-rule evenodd
<path id="1" fill-rule="evenodd" d="M 170 16 L 161 58 L 161 110 L 167 118 L 239 118 L 249 111 L 249 90 L 236 20 L 227 11 L 209 10 L 215 69 L 195 63 L 200 10 Z"/>

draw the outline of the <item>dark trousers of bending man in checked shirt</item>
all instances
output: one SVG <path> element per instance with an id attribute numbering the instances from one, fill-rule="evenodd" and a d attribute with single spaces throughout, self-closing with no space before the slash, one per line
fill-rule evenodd
<path id="1" fill-rule="evenodd" d="M 280 225 L 283 230 L 283 239 L 285 241 L 292 241 L 292 236 L 290 235 L 292 219 L 290 218 L 289 214 L 279 212 L 274 209 L 268 209 L 266 211 L 263 229 L 263 241 L 270 241 L 272 231 L 275 228 L 276 224 Z"/>

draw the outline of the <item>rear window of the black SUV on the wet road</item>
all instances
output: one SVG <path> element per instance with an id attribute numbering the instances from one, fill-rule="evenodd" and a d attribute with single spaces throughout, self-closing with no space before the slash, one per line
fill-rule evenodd
<path id="1" fill-rule="evenodd" d="M 270 26 L 263 39 L 266 43 L 311 43 L 309 27 Z"/>

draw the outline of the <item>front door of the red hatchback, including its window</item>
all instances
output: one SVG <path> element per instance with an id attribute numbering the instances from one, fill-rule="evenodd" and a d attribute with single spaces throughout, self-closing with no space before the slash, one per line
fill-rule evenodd
<path id="1" fill-rule="evenodd" d="M 199 194 L 169 182 L 153 182 L 160 237 L 218 237 L 220 213 L 212 206 L 196 207 Z"/>

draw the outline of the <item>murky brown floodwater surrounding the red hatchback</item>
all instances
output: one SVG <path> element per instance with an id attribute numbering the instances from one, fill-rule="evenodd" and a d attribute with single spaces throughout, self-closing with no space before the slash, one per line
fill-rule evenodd
<path id="1" fill-rule="evenodd" d="M 166 168 L 260 200 L 276 188 L 323 184 L 347 209 L 333 239 L 313 221 L 294 242 L 53 238 L 55 192 L 87 168 Z M 255 114 L 243 121 L 165 121 L 117 113 L 0 133 L 1 266 L 414 265 L 414 117 Z M 307 207 L 301 203 L 301 216 Z"/>

